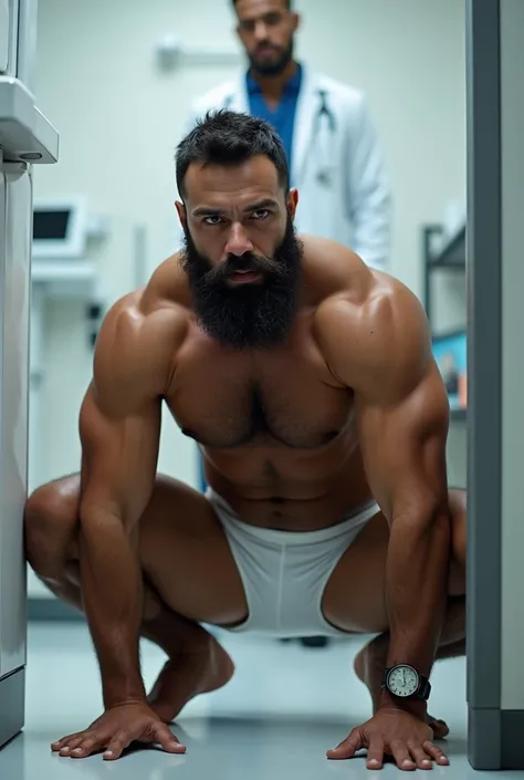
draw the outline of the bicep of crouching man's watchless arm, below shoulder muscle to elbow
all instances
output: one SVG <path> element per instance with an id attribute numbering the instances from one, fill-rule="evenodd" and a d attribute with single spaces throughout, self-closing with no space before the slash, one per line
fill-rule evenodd
<path id="1" fill-rule="evenodd" d="M 160 438 L 160 399 L 108 414 L 90 387 L 80 417 L 81 519 L 118 517 L 130 530 L 150 499 Z"/>

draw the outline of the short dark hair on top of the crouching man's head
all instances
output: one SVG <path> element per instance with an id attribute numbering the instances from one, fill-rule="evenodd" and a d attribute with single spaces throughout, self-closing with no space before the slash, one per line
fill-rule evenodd
<path id="1" fill-rule="evenodd" d="M 191 163 L 242 165 L 263 155 L 275 166 L 279 183 L 287 194 L 290 169 L 284 145 L 269 122 L 229 108 L 209 111 L 180 142 L 176 154 L 177 187 L 185 196 L 185 178 Z"/>

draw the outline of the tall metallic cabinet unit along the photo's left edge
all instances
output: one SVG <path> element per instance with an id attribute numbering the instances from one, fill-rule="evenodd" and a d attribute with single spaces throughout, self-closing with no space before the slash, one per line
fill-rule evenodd
<path id="1" fill-rule="evenodd" d="M 0 0 L 0 745 L 24 722 L 31 163 L 55 163 L 59 135 L 34 104 L 36 0 Z"/>

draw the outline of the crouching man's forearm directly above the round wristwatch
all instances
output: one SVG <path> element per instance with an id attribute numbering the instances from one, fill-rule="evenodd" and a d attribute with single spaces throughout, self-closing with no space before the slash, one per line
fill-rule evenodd
<path id="1" fill-rule="evenodd" d="M 388 666 L 411 664 L 429 677 L 446 615 L 449 554 L 446 513 L 425 524 L 394 521 L 386 571 Z"/>

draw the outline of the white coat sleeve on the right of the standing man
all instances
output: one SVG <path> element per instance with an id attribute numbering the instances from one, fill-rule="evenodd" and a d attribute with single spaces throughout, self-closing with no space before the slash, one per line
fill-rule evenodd
<path id="1" fill-rule="evenodd" d="M 348 108 L 347 209 L 352 249 L 370 267 L 387 271 L 391 232 L 391 190 L 384 152 L 364 96 Z"/>

